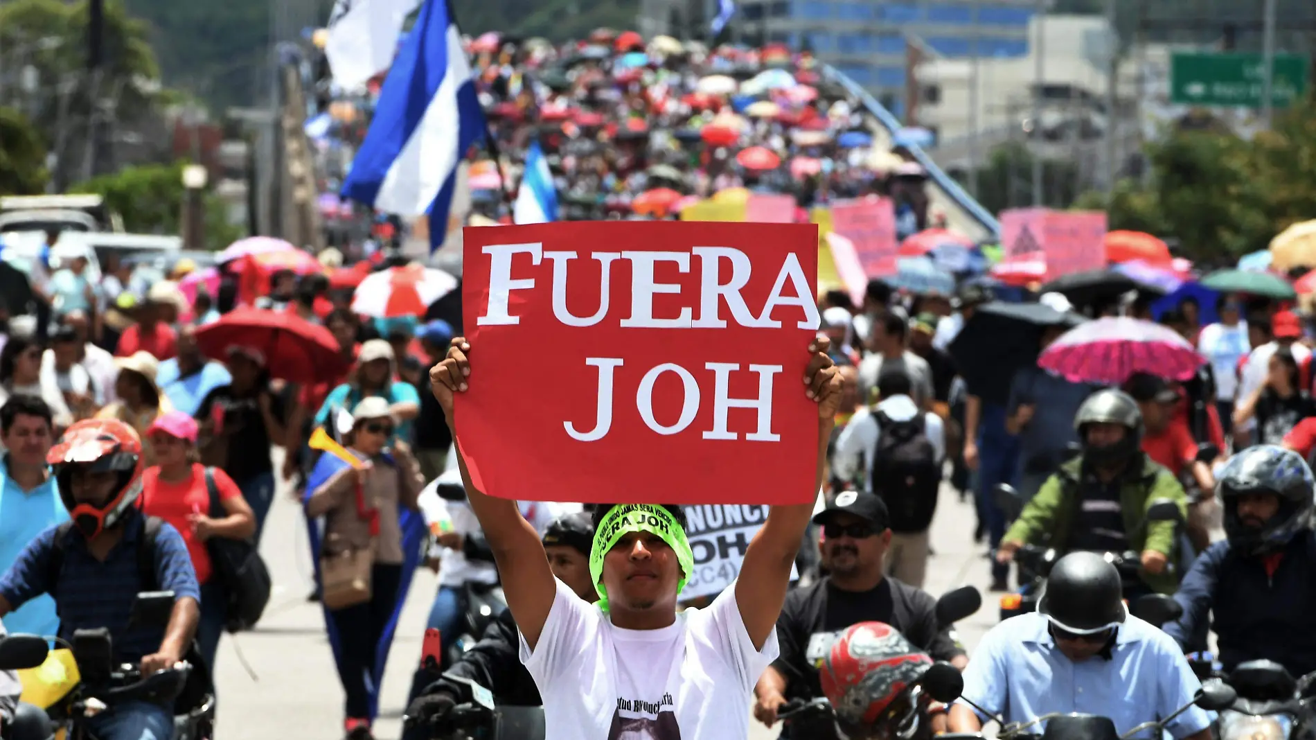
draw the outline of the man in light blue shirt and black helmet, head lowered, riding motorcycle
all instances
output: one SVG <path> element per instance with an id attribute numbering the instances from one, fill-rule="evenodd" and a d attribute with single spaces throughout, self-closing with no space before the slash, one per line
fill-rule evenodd
<path id="1" fill-rule="evenodd" d="M 1076 552 L 1055 562 L 1036 612 L 983 637 L 950 708 L 950 732 L 982 729 L 988 718 L 971 702 L 1005 723 L 1079 712 L 1109 718 L 1123 733 L 1173 715 L 1200 686 L 1179 645 L 1128 614 L 1115 566 Z M 1165 729 L 1175 740 L 1209 740 L 1211 718 L 1190 707 Z"/>

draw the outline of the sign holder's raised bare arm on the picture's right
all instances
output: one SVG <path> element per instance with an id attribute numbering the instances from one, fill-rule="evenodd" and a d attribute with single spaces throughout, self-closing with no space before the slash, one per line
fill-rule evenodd
<path id="1" fill-rule="evenodd" d="M 786 590 L 791 582 L 791 566 L 800 550 L 804 528 L 813 516 L 813 503 L 826 470 L 826 446 L 836 424 L 836 408 L 841 400 L 841 377 L 828 357 L 826 337 L 809 344 L 809 362 L 804 370 L 804 394 L 819 404 L 819 457 L 813 489 L 801 499 L 808 503 L 774 506 L 767 521 L 745 550 L 745 562 L 736 579 L 736 604 L 740 607 L 745 631 L 762 650 L 763 643 L 776 628 Z"/>

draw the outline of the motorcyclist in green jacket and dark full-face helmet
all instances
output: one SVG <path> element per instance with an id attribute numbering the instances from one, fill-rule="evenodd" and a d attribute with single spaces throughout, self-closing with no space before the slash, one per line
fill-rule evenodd
<path id="1" fill-rule="evenodd" d="M 1178 581 L 1166 565 L 1175 554 L 1175 523 L 1148 521 L 1144 515 L 1162 498 L 1178 503 L 1183 515 L 1187 496 L 1174 474 L 1140 448 L 1137 402 L 1123 391 L 1098 391 L 1079 407 L 1074 425 L 1082 454 L 1062 465 L 1028 502 L 1005 533 L 998 560 L 1008 562 L 1025 544 L 1059 552 L 1134 550 L 1141 553 L 1146 589 L 1173 594 Z"/>

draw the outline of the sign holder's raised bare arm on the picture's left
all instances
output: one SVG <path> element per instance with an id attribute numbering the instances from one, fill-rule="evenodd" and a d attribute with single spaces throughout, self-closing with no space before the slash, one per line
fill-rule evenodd
<path id="1" fill-rule="evenodd" d="M 467 390 L 466 379 L 471 375 L 467 359 L 470 352 L 471 345 L 466 338 L 453 340 L 447 348 L 447 357 L 429 371 L 429 384 L 434 399 L 443 410 L 447 428 L 453 432 L 457 463 L 462 470 L 462 485 L 466 486 L 466 500 L 475 517 L 480 520 L 480 529 L 484 531 L 484 539 L 494 552 L 507 607 L 512 610 L 512 618 L 521 629 L 525 644 L 533 650 L 540 641 L 544 623 L 549 619 L 549 610 L 553 608 L 557 585 L 540 535 L 521 516 L 516 502 L 484 495 L 471 482 L 471 474 L 466 469 L 466 456 L 462 453 L 457 432 L 457 415 L 453 413 L 453 396 Z"/>

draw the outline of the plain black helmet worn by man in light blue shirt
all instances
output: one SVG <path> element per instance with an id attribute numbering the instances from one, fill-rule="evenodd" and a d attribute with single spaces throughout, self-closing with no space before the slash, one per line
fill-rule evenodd
<path id="1" fill-rule="evenodd" d="M 1096 553 L 1076 552 L 1059 558 L 1042 586 L 1037 614 L 1075 635 L 1123 624 L 1129 611 L 1124 606 L 1120 571 Z"/>

